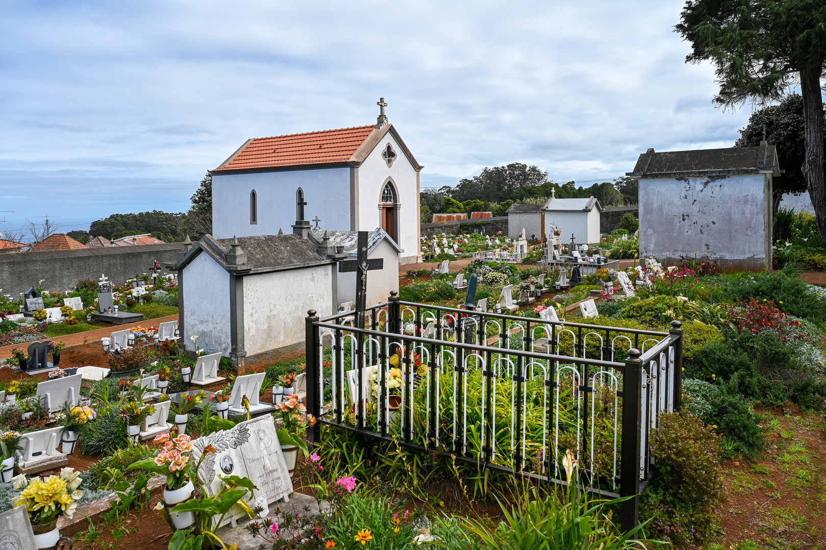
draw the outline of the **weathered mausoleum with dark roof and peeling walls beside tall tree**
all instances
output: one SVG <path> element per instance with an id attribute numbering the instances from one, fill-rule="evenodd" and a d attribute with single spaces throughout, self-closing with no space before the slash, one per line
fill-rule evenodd
<path id="1" fill-rule="evenodd" d="M 727 270 L 771 267 L 773 145 L 641 154 L 639 253 L 675 265 L 705 256 Z"/>

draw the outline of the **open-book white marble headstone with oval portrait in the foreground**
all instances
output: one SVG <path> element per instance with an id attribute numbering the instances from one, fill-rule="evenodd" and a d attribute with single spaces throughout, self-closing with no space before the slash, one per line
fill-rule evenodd
<path id="1" fill-rule="evenodd" d="M 223 487 L 219 476 L 240 476 L 249 479 L 258 487 L 248 502 L 266 496 L 271 504 L 292 493 L 292 480 L 287 471 L 287 463 L 278 444 L 273 417 L 259 416 L 249 421 L 236 424 L 231 430 L 216 431 L 214 434 L 198 438 L 192 442 L 195 448 L 192 458 L 201 458 L 203 449 L 211 444 L 215 454 L 204 458 L 198 477 L 206 487 L 207 495 L 215 495 Z M 224 517 L 221 525 L 229 524 L 233 519 L 249 517 L 239 505 L 233 506 Z"/>

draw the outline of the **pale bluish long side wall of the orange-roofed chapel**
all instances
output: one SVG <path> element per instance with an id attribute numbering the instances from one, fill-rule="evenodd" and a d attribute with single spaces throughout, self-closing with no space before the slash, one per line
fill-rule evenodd
<path id="1" fill-rule="evenodd" d="M 349 168 L 289 170 L 212 176 L 212 236 L 216 238 L 292 233 L 296 190 L 304 191 L 304 219 L 320 227 L 350 230 Z M 258 223 L 249 223 L 249 192 L 258 195 Z M 374 225 L 373 228 L 377 226 Z"/>

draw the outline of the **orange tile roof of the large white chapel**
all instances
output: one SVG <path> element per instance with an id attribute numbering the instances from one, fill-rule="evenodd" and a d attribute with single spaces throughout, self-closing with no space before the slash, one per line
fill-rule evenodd
<path id="1" fill-rule="evenodd" d="M 347 162 L 373 129 L 368 125 L 251 139 L 212 172 Z"/>

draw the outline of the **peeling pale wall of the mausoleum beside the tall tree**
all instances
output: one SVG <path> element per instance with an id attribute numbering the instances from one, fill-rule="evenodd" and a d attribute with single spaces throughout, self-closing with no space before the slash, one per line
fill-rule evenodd
<path id="1" fill-rule="evenodd" d="M 675 263 L 696 252 L 724 268 L 770 266 L 769 178 L 746 174 L 640 179 L 640 256 L 653 254 Z"/>

